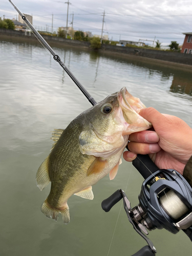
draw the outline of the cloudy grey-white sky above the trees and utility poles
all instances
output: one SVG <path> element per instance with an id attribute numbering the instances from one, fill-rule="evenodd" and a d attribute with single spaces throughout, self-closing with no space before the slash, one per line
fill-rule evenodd
<path id="1" fill-rule="evenodd" d="M 23 13 L 33 15 L 33 26 L 51 32 L 66 27 L 68 0 L 13 0 Z M 167 46 L 171 41 L 183 44 L 182 33 L 192 32 L 192 1 L 189 0 L 70 0 L 68 27 L 74 13 L 74 30 L 103 34 L 110 40 L 142 39 L 146 44 L 159 40 Z M 16 18 L 18 14 L 8 0 L 0 0 L 0 17 Z M 150 41 L 152 40 L 152 41 Z"/>

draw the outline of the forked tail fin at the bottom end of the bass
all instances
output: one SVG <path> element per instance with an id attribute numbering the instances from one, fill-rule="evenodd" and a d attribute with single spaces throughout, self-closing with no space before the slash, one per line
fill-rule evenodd
<path id="1" fill-rule="evenodd" d="M 68 224 L 70 222 L 69 206 L 67 203 L 63 205 L 62 209 L 55 209 L 48 204 L 46 199 L 41 206 L 41 211 L 47 218 L 57 221 L 59 214 L 61 214 L 63 223 Z"/>

